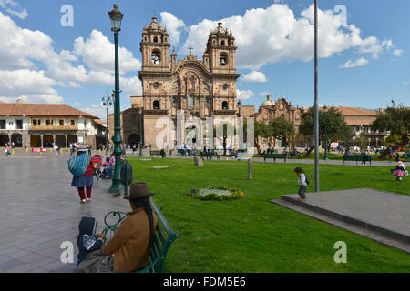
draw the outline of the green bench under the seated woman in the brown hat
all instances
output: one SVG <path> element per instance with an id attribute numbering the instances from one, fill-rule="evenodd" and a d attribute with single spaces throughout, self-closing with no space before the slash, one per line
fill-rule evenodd
<path id="1" fill-rule="evenodd" d="M 158 227 L 157 232 L 154 235 L 154 245 L 151 248 L 151 253 L 149 255 L 149 266 L 146 266 L 142 270 L 138 270 L 132 273 L 163 273 L 164 263 L 167 258 L 169 247 L 172 243 L 180 237 L 178 232 L 174 232 L 169 226 L 167 219 L 160 212 L 159 207 L 155 204 L 152 198 L 149 199 L 152 207 L 152 211 L 158 216 Z M 106 240 L 104 243 L 114 236 L 120 223 L 128 216 L 124 212 L 110 212 L 104 218 L 104 223 L 107 226 L 103 230 L 103 234 L 106 235 Z M 111 219 L 110 219 L 111 218 Z M 110 224 L 108 220 L 115 220 L 114 224 Z"/>

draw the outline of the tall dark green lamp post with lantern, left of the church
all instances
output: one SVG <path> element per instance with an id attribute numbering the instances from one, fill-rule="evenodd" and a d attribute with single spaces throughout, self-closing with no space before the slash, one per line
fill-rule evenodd
<path id="1" fill-rule="evenodd" d="M 118 10 L 118 4 L 114 5 L 114 10 L 108 12 L 111 19 L 111 30 L 114 32 L 115 42 L 115 101 L 114 101 L 114 136 L 112 140 L 114 142 L 114 156 L 116 157 L 116 165 L 114 166 L 114 176 L 112 178 L 112 185 L 109 188 L 109 193 L 119 193 L 124 190 L 124 185 L 121 184 L 120 171 L 121 171 L 121 121 L 119 117 L 119 65 L 118 65 L 118 33 L 121 31 L 122 17 L 124 16 Z"/>

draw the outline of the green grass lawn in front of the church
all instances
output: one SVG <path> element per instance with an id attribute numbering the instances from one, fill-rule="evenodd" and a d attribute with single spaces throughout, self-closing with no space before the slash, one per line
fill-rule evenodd
<path id="1" fill-rule="evenodd" d="M 295 164 L 129 158 L 134 181 L 146 182 L 181 237 L 170 249 L 167 272 L 409 272 L 410 256 L 392 247 L 304 216 L 271 199 L 297 193 Z M 149 166 L 172 166 L 152 170 Z M 302 165 L 313 179 L 313 165 Z M 371 187 L 410 195 L 410 177 L 398 183 L 389 167 L 321 166 L 321 190 Z M 184 196 L 192 187 L 232 186 L 246 196 L 231 202 Z M 310 187 L 312 191 L 313 186 Z M 347 244 L 347 264 L 333 245 Z"/>

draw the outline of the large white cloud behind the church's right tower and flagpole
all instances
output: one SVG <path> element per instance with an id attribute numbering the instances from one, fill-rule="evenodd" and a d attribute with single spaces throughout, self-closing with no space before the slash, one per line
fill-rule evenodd
<path id="1" fill-rule="evenodd" d="M 225 28 L 236 38 L 237 64 L 241 68 L 258 70 L 262 65 L 280 61 L 313 59 L 314 30 L 313 5 L 295 16 L 288 5 L 273 4 L 267 8 L 247 10 L 244 15 L 222 19 Z M 343 16 L 333 10 L 319 10 L 319 57 L 327 58 L 344 50 L 356 49 L 359 54 L 377 58 L 395 47 L 391 40 L 380 41 L 374 36 L 363 38 L 355 25 L 343 27 Z M 180 53 L 188 54 L 194 46 L 195 55 L 201 56 L 210 31 L 217 21 L 202 20 L 190 25 L 188 38 Z"/>

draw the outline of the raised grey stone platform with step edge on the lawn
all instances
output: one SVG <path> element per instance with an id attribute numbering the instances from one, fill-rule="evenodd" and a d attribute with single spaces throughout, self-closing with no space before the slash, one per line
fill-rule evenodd
<path id="1" fill-rule="evenodd" d="M 272 202 L 309 216 L 316 214 L 331 224 L 341 222 L 341 227 L 354 232 L 362 228 L 362 235 L 410 253 L 410 196 L 364 188 L 308 193 L 306 203 L 298 198 L 284 195 Z"/>

